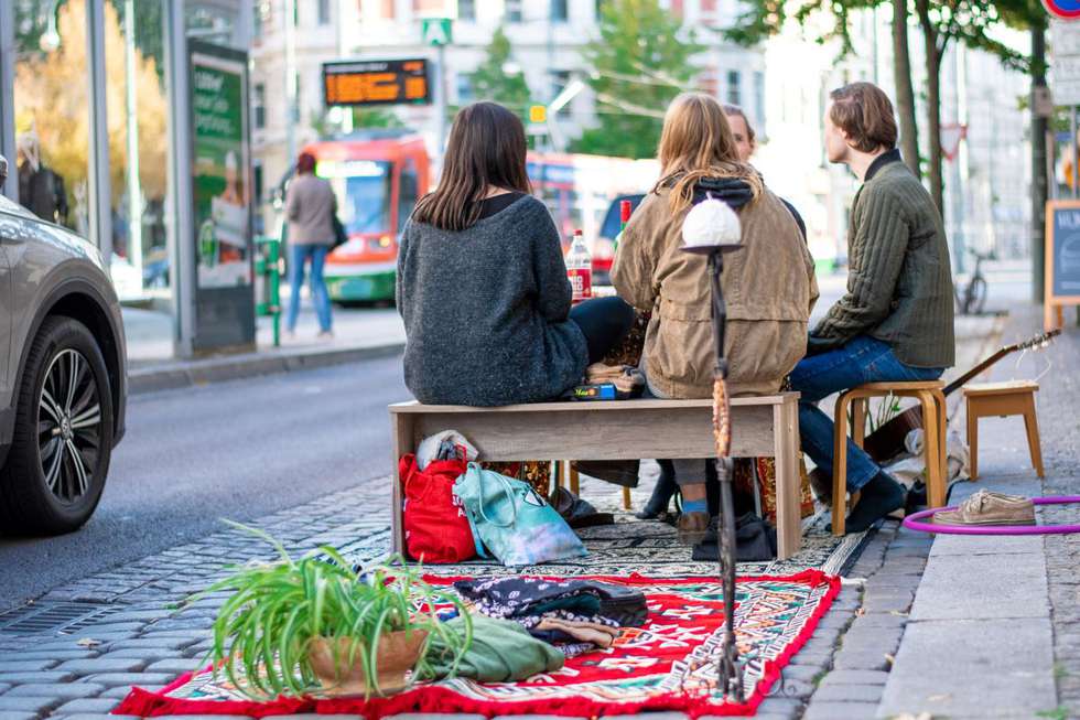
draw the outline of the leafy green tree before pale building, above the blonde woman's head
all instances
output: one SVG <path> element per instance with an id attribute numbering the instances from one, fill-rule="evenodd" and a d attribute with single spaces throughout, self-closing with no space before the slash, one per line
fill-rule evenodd
<path id="1" fill-rule="evenodd" d="M 656 155 L 663 112 L 692 86 L 693 57 L 703 47 L 657 0 L 601 6 L 600 37 L 583 51 L 592 73 L 600 125 L 574 143 L 577 152 L 625 158 Z"/>

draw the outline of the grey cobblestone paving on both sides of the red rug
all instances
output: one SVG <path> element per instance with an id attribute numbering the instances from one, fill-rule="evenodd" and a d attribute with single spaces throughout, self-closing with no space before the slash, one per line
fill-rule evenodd
<path id="1" fill-rule="evenodd" d="M 349 544 L 360 559 L 375 559 L 389 546 L 388 492 L 385 479 L 370 479 L 256 525 L 292 552 Z M 646 492 L 636 491 L 635 502 L 642 503 Z M 357 538 L 366 539 L 358 552 Z M 930 538 L 886 523 L 757 717 L 872 717 L 929 548 Z M 258 538 L 223 529 L 54 589 L 20 609 L 26 633 L 0 633 L 0 720 L 105 720 L 132 685 L 159 689 L 202 666 L 224 598 L 183 601 L 219 578 L 224 565 L 272 556 Z M 50 626 L 51 619 L 58 620 Z"/>

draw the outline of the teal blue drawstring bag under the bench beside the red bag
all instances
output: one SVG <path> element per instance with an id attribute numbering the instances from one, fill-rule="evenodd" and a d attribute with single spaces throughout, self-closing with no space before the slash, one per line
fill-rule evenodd
<path id="1" fill-rule="evenodd" d="M 587 555 L 555 508 L 528 483 L 483 470 L 475 462 L 454 483 L 480 557 L 484 548 L 506 566 L 537 565 Z"/>

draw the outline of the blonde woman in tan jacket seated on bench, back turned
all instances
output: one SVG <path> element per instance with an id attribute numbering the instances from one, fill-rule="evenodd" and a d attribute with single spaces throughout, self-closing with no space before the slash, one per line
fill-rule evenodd
<path id="1" fill-rule="evenodd" d="M 736 395 L 779 391 L 806 354 L 818 298 L 813 260 L 795 218 L 744 163 L 723 109 L 708 95 L 680 95 L 668 108 L 658 151 L 661 178 L 623 233 L 612 281 L 620 298 L 652 312 L 641 364 L 660 398 L 712 394 L 713 337 L 706 260 L 683 252 L 682 222 L 715 197 L 738 213 L 743 247 L 724 260 L 724 354 Z M 679 537 L 700 540 L 709 525 L 705 464 L 676 460 L 682 491 Z"/>

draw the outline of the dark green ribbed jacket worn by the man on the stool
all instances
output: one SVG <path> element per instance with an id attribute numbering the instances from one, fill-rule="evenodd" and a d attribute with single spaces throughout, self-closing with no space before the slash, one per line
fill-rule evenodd
<path id="1" fill-rule="evenodd" d="M 855 193 L 847 258 L 847 292 L 810 333 L 809 352 L 868 335 L 906 365 L 952 366 L 952 271 L 941 214 L 899 151 L 879 155 Z"/>

